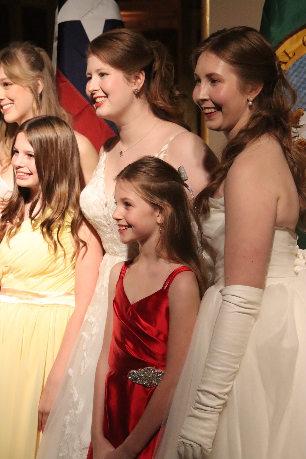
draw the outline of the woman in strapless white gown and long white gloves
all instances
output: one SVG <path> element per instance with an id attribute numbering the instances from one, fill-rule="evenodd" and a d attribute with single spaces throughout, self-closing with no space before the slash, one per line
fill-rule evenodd
<path id="1" fill-rule="evenodd" d="M 255 29 L 211 34 L 194 59 L 194 101 L 228 140 L 196 199 L 215 284 L 155 458 L 305 459 L 306 269 L 294 229 L 306 223 L 306 160 L 291 139 L 295 94 Z"/>

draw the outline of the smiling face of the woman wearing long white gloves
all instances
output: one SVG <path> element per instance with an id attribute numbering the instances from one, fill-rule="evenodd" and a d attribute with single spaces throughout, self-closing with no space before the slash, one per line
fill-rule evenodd
<path id="1" fill-rule="evenodd" d="M 206 126 L 234 137 L 250 118 L 250 94 L 241 90 L 233 68 L 205 51 L 195 67 L 193 100 L 205 114 Z"/>

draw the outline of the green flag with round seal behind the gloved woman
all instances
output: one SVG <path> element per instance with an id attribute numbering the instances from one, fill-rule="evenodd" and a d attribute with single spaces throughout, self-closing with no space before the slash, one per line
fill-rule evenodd
<path id="1" fill-rule="evenodd" d="M 306 1 L 266 0 L 260 33 L 274 47 L 279 62 L 297 99 L 293 107 L 295 123 L 292 136 L 306 151 Z M 306 179 L 306 178 L 305 178 Z M 301 249 L 306 249 L 306 233 L 297 230 Z"/>

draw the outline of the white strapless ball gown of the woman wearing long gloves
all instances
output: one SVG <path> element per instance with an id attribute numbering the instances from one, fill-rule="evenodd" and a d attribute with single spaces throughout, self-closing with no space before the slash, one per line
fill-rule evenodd
<path id="1" fill-rule="evenodd" d="M 210 198 L 210 206 L 203 233 L 215 284 L 201 302 L 155 459 L 178 459 L 178 436 L 195 400 L 221 306 L 224 199 Z M 219 415 L 211 459 L 306 458 L 306 269 L 295 266 L 296 256 L 295 233 L 275 227 L 261 311 Z"/>

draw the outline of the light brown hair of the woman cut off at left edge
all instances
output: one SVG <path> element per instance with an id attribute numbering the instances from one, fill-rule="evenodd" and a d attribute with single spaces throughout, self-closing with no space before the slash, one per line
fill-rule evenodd
<path id="1" fill-rule="evenodd" d="M 56 90 L 52 62 L 46 51 L 30 42 L 13 42 L 0 50 L 0 67 L 13 83 L 29 89 L 33 94 L 33 116 L 50 115 L 69 123 L 70 116 L 61 107 Z M 38 79 L 43 82 L 43 90 L 38 93 Z M 2 170 L 11 162 L 11 146 L 17 123 L 6 123 L 0 113 L 0 140 L 4 140 L 6 157 Z"/>

